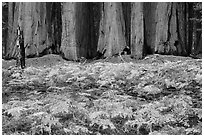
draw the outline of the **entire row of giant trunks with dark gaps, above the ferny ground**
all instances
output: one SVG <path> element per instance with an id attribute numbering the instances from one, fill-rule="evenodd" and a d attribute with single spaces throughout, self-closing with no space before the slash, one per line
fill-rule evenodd
<path id="1" fill-rule="evenodd" d="M 201 2 L 3 2 L 3 58 L 17 56 L 18 25 L 27 57 L 200 54 L 201 11 Z"/>

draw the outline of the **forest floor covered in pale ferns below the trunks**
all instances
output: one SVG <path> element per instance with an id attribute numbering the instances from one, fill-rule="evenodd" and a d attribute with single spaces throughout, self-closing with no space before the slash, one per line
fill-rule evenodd
<path id="1" fill-rule="evenodd" d="M 2 134 L 202 134 L 202 60 L 2 60 Z"/>

